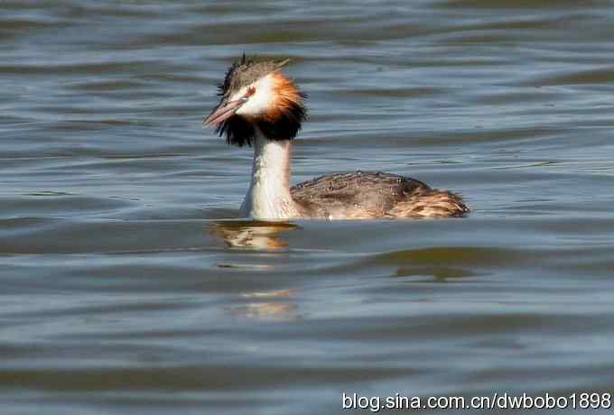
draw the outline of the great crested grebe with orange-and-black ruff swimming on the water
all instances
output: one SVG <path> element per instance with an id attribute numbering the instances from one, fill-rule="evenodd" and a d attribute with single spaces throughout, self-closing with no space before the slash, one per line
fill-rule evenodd
<path id="1" fill-rule="evenodd" d="M 338 173 L 290 187 L 293 138 L 307 110 L 305 95 L 281 68 L 288 60 L 235 62 L 219 86 L 219 105 L 203 121 L 228 144 L 254 147 L 252 180 L 241 205 L 255 219 L 461 217 L 469 212 L 449 191 L 382 172 Z"/>

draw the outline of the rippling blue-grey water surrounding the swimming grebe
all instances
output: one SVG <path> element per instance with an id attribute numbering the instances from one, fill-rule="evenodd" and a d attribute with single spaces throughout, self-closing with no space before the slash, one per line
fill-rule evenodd
<path id="1" fill-rule="evenodd" d="M 605 1 L 0 3 L 3 414 L 612 392 L 613 28 Z M 200 123 L 243 51 L 310 96 L 295 181 L 391 171 L 473 213 L 239 220 L 251 154 Z"/>

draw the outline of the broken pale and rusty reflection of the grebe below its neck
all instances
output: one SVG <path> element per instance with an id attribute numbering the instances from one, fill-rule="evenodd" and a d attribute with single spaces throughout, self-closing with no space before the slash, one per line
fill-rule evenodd
<path id="1" fill-rule="evenodd" d="M 264 252 L 280 252 L 288 243 L 280 237 L 300 226 L 285 222 L 263 221 L 218 221 L 212 234 L 221 238 L 229 248 Z M 274 265 L 255 263 L 224 263 L 219 268 L 249 270 L 256 272 L 273 271 Z M 290 321 L 300 318 L 299 307 L 294 300 L 295 290 L 248 291 L 242 292 L 229 309 L 233 318 L 256 318 L 263 320 Z"/>

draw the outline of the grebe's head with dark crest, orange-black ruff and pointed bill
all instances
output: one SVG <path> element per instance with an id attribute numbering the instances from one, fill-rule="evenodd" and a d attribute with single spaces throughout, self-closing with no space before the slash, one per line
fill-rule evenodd
<path id="1" fill-rule="evenodd" d="M 219 85 L 219 104 L 203 125 L 215 125 L 228 144 L 239 147 L 252 144 L 256 128 L 269 140 L 292 140 L 307 110 L 305 94 L 281 72 L 288 61 L 255 62 L 244 54 L 228 69 Z"/>

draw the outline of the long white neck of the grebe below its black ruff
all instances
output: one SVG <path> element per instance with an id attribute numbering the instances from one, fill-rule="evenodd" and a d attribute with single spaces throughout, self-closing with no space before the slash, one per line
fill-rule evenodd
<path id="1" fill-rule="evenodd" d="M 255 219 L 289 219 L 299 217 L 296 204 L 290 196 L 290 140 L 268 140 L 256 128 L 254 139 L 254 166 L 252 181 L 241 213 Z"/>

